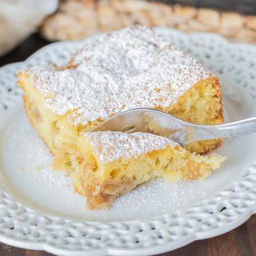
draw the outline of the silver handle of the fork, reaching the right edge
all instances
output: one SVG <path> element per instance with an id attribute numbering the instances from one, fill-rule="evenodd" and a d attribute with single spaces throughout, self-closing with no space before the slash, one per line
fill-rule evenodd
<path id="1" fill-rule="evenodd" d="M 227 137 L 235 137 L 256 132 L 256 117 L 243 119 L 222 125 L 191 125 L 194 128 L 194 136 L 191 141 L 203 139 L 219 139 Z"/>

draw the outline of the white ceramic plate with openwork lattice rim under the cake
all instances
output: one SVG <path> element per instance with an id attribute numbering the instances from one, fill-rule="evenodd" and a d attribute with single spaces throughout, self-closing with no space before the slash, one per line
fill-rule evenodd
<path id="1" fill-rule="evenodd" d="M 226 121 L 256 115 L 256 47 L 214 34 L 156 29 L 220 77 Z M 99 35 L 100 36 L 100 35 Z M 256 212 L 256 136 L 228 139 L 228 156 L 206 181 L 153 181 L 107 211 L 87 211 L 28 122 L 16 86 L 19 69 L 65 63 L 83 44 L 57 42 L 0 69 L 0 241 L 57 255 L 154 255 L 235 228 Z"/>

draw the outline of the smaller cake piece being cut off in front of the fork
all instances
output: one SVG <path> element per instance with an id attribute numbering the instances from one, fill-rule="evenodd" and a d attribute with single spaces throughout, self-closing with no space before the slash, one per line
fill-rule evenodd
<path id="1" fill-rule="evenodd" d="M 72 154 L 75 190 L 89 209 L 106 208 L 137 185 L 158 177 L 167 181 L 205 179 L 224 157 L 200 156 L 150 133 L 81 133 Z"/>

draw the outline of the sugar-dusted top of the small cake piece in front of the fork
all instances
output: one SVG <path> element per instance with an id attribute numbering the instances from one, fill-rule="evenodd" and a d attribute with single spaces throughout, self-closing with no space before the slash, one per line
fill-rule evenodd
<path id="1" fill-rule="evenodd" d="M 178 143 L 166 137 L 151 133 L 121 133 L 119 131 L 95 131 L 83 134 L 96 155 L 103 163 L 120 158 L 136 158 L 154 150 L 163 150 L 166 146 L 179 147 Z"/>

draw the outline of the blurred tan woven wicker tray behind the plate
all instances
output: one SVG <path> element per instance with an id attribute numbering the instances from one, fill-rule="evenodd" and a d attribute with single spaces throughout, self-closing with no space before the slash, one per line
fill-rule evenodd
<path id="1" fill-rule="evenodd" d="M 214 32 L 234 42 L 256 43 L 255 9 L 252 0 L 66 0 L 44 20 L 40 33 L 50 41 L 79 40 L 141 24 Z"/>

